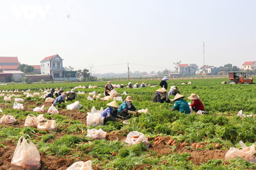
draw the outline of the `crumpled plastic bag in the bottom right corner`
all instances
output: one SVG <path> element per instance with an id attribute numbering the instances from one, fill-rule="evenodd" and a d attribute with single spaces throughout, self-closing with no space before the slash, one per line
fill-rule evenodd
<path id="1" fill-rule="evenodd" d="M 251 145 L 250 147 L 247 147 L 244 142 L 239 142 L 242 149 L 237 149 L 236 147 L 231 147 L 229 151 L 225 154 L 226 159 L 230 158 L 243 158 L 244 160 L 247 160 L 248 162 L 254 162 L 256 164 L 256 158 L 253 155 L 255 152 L 255 144 Z"/>

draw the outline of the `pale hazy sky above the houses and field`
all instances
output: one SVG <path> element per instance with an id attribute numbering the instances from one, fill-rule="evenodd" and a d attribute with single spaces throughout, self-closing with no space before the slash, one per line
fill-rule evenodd
<path id="1" fill-rule="evenodd" d="M 64 67 L 94 73 L 124 73 L 127 63 L 175 70 L 178 61 L 241 68 L 256 60 L 256 0 L 0 2 L 1 57 L 40 65 L 57 53 Z"/>

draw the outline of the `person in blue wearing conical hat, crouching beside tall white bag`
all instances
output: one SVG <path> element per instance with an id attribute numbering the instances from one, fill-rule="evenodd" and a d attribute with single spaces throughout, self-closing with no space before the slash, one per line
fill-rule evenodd
<path id="1" fill-rule="evenodd" d="M 108 121 L 118 121 L 116 118 L 125 119 L 123 116 L 119 116 L 117 114 L 117 109 L 120 108 L 118 103 L 114 100 L 107 104 L 108 108 L 106 108 L 103 112 L 101 117 L 104 118 L 104 124 Z"/>

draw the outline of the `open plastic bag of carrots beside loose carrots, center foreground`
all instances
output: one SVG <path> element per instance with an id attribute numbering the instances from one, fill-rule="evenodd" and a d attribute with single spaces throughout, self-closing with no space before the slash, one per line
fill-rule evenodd
<path id="1" fill-rule="evenodd" d="M 149 147 L 150 143 L 148 142 L 147 138 L 143 135 L 143 133 L 132 131 L 127 135 L 127 138 L 125 139 L 125 143 L 127 145 L 139 144 L 140 141 L 145 143 L 147 148 Z"/>

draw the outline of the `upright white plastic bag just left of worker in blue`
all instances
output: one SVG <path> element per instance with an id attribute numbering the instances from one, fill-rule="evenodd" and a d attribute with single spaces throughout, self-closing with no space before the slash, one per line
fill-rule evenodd
<path id="1" fill-rule="evenodd" d="M 97 127 L 99 125 L 104 125 L 104 118 L 101 117 L 101 113 L 103 112 L 103 108 L 100 111 L 97 111 L 96 108 L 93 106 L 91 113 L 87 113 L 86 120 L 87 126 L 94 126 Z"/>

